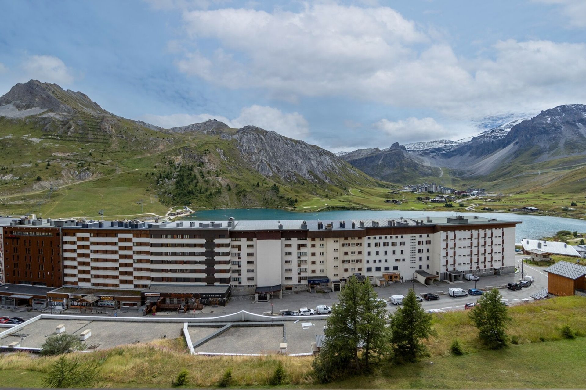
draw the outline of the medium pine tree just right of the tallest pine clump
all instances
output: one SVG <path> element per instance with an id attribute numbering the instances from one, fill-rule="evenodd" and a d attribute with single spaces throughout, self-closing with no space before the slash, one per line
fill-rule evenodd
<path id="1" fill-rule="evenodd" d="M 394 357 L 403 361 L 415 361 L 425 352 L 423 340 L 434 334 L 431 314 L 425 313 L 410 289 L 403 299 L 403 306 L 391 316 L 391 344 Z"/>

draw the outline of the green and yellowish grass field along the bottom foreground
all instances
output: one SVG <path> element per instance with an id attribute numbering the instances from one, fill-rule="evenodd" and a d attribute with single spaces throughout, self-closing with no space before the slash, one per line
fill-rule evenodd
<path id="1" fill-rule="evenodd" d="M 367 377 L 353 377 L 328 385 L 312 382 L 312 357 L 200 357 L 186 353 L 182 339 L 128 345 L 83 354 L 100 361 L 103 384 L 117 388 L 169 387 L 182 368 L 189 387 L 213 387 L 224 371 L 233 371 L 234 386 L 266 386 L 282 361 L 293 388 L 580 388 L 586 370 L 586 298 L 561 297 L 510 308 L 508 333 L 518 338 L 500 351 L 486 350 L 476 337 L 467 312 L 434 316 L 437 336 L 428 341 L 430 356 L 415 364 L 383 362 Z M 578 336 L 565 340 L 568 324 Z M 449 353 L 458 338 L 464 356 Z M 23 353 L 0 355 L 3 387 L 39 387 L 56 357 Z M 433 364 L 431 364 L 431 362 Z"/>

